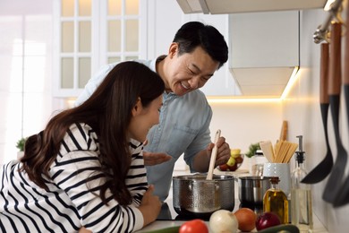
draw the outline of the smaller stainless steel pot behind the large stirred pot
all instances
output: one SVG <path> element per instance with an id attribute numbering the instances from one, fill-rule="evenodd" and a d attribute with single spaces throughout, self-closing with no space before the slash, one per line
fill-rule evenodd
<path id="1" fill-rule="evenodd" d="M 270 188 L 269 177 L 239 177 L 239 200 L 247 204 L 263 204 L 263 196 Z"/>

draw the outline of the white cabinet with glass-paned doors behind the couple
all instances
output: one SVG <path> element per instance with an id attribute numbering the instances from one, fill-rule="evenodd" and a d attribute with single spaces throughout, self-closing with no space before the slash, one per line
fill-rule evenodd
<path id="1" fill-rule="evenodd" d="M 55 0 L 54 96 L 75 98 L 107 63 L 140 58 L 140 0 Z"/>

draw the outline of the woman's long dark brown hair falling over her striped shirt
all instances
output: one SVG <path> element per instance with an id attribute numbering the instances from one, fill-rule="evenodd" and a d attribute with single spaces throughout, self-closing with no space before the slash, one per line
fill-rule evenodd
<path id="1" fill-rule="evenodd" d="M 60 150 L 64 135 L 72 124 L 86 123 L 98 135 L 99 160 L 106 176 L 106 183 L 100 190 L 102 200 L 106 201 L 106 189 L 109 188 L 119 203 L 130 203 L 131 194 L 124 181 L 131 164 L 126 134 L 132 108 L 138 98 L 143 107 L 147 107 L 164 90 L 164 82 L 147 66 L 137 62 L 116 65 L 81 106 L 57 114 L 44 131 L 28 138 L 21 159 L 22 170 L 35 184 L 47 189 L 42 176 L 49 177 L 48 170 Z"/>

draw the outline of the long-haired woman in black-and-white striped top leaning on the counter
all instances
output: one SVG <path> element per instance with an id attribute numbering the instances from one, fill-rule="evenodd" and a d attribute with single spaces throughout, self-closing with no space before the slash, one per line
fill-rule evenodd
<path id="1" fill-rule="evenodd" d="M 145 65 L 121 63 L 81 106 L 30 136 L 21 162 L 0 170 L 0 231 L 132 232 L 156 220 L 141 142 L 164 90 Z"/>

